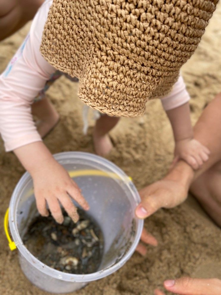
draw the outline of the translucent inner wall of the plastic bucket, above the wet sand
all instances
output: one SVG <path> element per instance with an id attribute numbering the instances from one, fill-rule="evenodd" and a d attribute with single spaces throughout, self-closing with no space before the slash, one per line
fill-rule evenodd
<path id="1" fill-rule="evenodd" d="M 95 169 L 110 171 L 113 174 L 113 170 L 108 169 L 106 165 L 93 161 L 90 163 L 88 159 L 83 162 L 82 159 L 59 160 L 67 171 Z M 122 180 L 120 177 L 88 175 L 74 177 L 73 180 L 81 188 L 90 205 L 88 213 L 98 222 L 104 235 L 104 254 L 98 269 L 103 271 L 118 262 L 134 241 L 137 220 L 134 219 L 136 202 L 133 185 L 130 185 L 127 177 Z M 16 203 L 16 212 L 12 214 L 16 213 L 14 221 L 22 238 L 37 214 L 30 176 L 22 184 Z"/>

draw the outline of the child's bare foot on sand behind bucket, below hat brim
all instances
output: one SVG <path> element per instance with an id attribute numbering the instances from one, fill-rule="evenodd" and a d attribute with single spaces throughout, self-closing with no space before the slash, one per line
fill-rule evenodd
<path id="1" fill-rule="evenodd" d="M 97 132 L 94 130 L 93 141 L 95 152 L 99 156 L 104 157 L 112 150 L 113 145 L 108 134 L 101 136 L 98 135 Z"/>

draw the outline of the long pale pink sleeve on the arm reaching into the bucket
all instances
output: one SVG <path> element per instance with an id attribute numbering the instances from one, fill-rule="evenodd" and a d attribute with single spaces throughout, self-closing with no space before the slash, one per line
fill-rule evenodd
<path id="1" fill-rule="evenodd" d="M 0 132 L 6 151 L 41 141 L 31 104 L 55 69 L 39 48 L 51 0 L 38 10 L 25 41 L 0 76 Z"/>

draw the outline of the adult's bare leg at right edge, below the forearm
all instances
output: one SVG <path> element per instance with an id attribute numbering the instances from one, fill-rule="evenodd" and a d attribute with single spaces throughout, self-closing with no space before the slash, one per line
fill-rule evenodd
<path id="1" fill-rule="evenodd" d="M 198 177 L 191 185 L 190 192 L 221 227 L 221 162 Z"/>

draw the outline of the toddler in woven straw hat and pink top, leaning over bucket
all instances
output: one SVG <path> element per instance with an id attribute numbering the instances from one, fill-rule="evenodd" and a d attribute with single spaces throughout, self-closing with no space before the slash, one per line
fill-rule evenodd
<path id="1" fill-rule="evenodd" d="M 196 49 L 216 1 L 199 22 L 196 12 L 190 25 L 185 17 L 189 7 L 177 4 L 175 9 L 173 1 L 163 2 L 46 0 L 1 74 L 1 136 L 6 151 L 13 151 L 31 174 L 42 216 L 48 216 L 48 204 L 62 223 L 60 202 L 76 222 L 71 198 L 89 209 L 76 183 L 42 142 L 59 119 L 44 91 L 62 73 L 79 78 L 80 99 L 101 113 L 93 132 L 98 154 L 111 150 L 108 132 L 120 116 L 142 115 L 146 101 L 161 96 L 173 128 L 175 160 L 183 159 L 194 169 L 208 160 L 209 150 L 193 138 L 189 94 L 179 70 Z M 37 126 L 32 115 L 39 119 Z"/>

